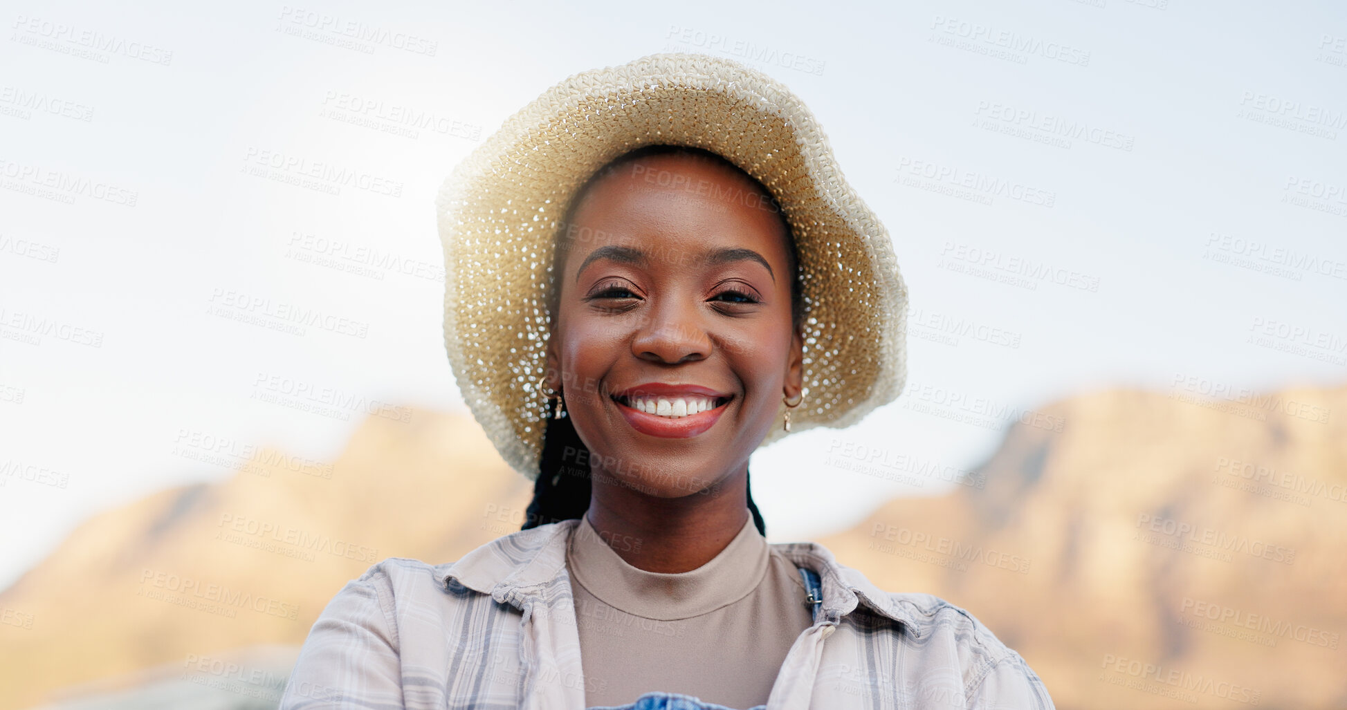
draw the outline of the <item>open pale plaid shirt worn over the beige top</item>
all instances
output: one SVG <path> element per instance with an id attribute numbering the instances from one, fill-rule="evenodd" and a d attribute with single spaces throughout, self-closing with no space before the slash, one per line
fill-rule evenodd
<path id="1" fill-rule="evenodd" d="M 314 622 L 282 710 L 585 710 L 586 684 L 603 680 L 581 667 L 566 569 L 578 523 L 513 532 L 454 563 L 374 564 Z M 882 591 L 818 543 L 772 547 L 819 574 L 823 604 L 768 710 L 1053 707 L 1024 659 L 963 609 Z"/>

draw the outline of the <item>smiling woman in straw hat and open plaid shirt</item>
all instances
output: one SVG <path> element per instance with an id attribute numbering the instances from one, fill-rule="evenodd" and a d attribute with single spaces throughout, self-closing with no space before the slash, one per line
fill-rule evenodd
<path id="1" fill-rule="evenodd" d="M 750 454 L 905 377 L 889 237 L 784 86 L 699 55 L 578 74 L 439 220 L 450 361 L 528 519 L 346 585 L 282 707 L 1052 707 L 967 612 L 764 538 Z"/>

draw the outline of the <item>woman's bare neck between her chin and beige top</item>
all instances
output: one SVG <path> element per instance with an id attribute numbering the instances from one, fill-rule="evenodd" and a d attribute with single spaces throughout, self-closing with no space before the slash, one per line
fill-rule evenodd
<path id="1" fill-rule="evenodd" d="M 710 562 L 744 528 L 750 517 L 746 476 L 745 466 L 715 493 L 674 498 L 595 481 L 585 516 L 628 564 L 651 573 L 686 573 Z"/>

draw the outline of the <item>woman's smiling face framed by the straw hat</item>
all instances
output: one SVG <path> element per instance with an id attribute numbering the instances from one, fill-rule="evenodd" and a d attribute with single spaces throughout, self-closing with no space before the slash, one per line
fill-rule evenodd
<path id="1" fill-rule="evenodd" d="M 718 490 L 800 393 L 780 216 L 733 168 L 672 154 L 594 182 L 566 230 L 547 380 L 594 482 Z"/>

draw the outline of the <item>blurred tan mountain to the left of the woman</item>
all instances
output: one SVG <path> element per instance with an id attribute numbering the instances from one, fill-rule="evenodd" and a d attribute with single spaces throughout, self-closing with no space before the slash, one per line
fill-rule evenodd
<path id="1" fill-rule="evenodd" d="M 370 564 L 451 562 L 520 528 L 532 484 L 471 418 L 388 412 L 405 422 L 369 416 L 333 463 L 261 450 L 225 482 L 164 490 L 77 528 L 0 593 L 0 707 L 116 694 L 154 667 L 203 688 L 236 683 L 216 660 L 302 644 Z M 206 454 L 218 443 L 182 446 Z"/>

